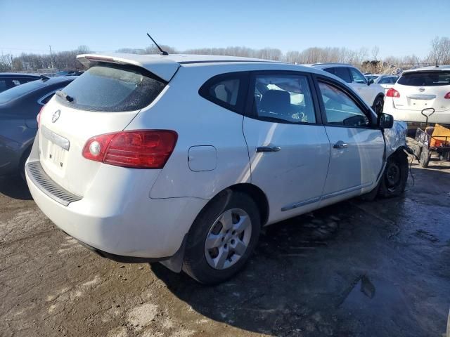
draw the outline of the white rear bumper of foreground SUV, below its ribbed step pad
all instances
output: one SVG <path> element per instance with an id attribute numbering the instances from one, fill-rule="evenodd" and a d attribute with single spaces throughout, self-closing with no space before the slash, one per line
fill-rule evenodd
<path id="1" fill-rule="evenodd" d="M 55 225 L 110 258 L 173 256 L 207 202 L 191 197 L 150 199 L 147 191 L 134 200 L 84 197 L 64 206 L 42 192 L 29 173 L 25 176 L 37 206 Z"/>

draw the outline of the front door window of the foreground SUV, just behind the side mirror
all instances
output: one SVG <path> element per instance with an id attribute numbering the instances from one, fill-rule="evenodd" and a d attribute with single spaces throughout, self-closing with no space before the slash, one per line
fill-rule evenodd
<path id="1" fill-rule="evenodd" d="M 327 124 L 342 126 L 368 126 L 366 114 L 347 93 L 335 86 L 319 81 Z"/>

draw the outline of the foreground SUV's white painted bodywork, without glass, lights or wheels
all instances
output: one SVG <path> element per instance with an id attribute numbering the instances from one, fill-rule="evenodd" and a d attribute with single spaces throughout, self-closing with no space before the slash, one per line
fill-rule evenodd
<path id="1" fill-rule="evenodd" d="M 219 56 L 94 55 L 145 67 L 170 79 L 141 110 L 88 112 L 52 98 L 41 112 L 39 136 L 28 162 L 39 161 L 51 180 L 82 199 L 68 206 L 59 204 L 27 173 L 32 197 L 58 227 L 96 249 L 121 256 L 172 256 L 207 202 L 236 184 L 252 184 L 264 192 L 269 202 L 267 225 L 368 192 L 377 183 L 385 149 L 378 128 L 260 121 L 198 93 L 207 79 L 227 72 L 323 74 L 321 70 Z M 80 59 L 91 62 L 86 55 Z M 60 116 L 53 122 L 56 110 Z M 59 151 L 56 157 L 61 161 L 48 157 L 52 151 L 41 134 L 43 127 L 70 141 L 70 150 Z M 130 169 L 82 157 L 86 140 L 93 136 L 142 129 L 178 133 L 163 169 Z M 339 140 L 349 147 L 333 149 Z M 256 147 L 265 145 L 280 146 L 281 151 L 256 152 Z"/>

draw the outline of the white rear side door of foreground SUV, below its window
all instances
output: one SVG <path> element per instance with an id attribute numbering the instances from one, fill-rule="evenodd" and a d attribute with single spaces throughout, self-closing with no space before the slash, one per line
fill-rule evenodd
<path id="1" fill-rule="evenodd" d="M 272 123 L 245 117 L 252 183 L 266 194 L 274 223 L 317 208 L 330 159 L 325 127 Z M 278 152 L 257 152 L 277 146 Z"/>

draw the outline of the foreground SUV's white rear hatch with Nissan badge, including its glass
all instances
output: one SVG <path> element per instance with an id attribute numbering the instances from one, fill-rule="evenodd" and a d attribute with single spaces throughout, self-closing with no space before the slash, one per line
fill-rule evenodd
<path id="1" fill-rule="evenodd" d="M 86 141 L 122 131 L 166 84 L 134 65 L 99 62 L 91 67 L 41 111 L 39 151 L 44 171 L 65 190 L 84 196 L 105 165 L 82 156 Z"/>

